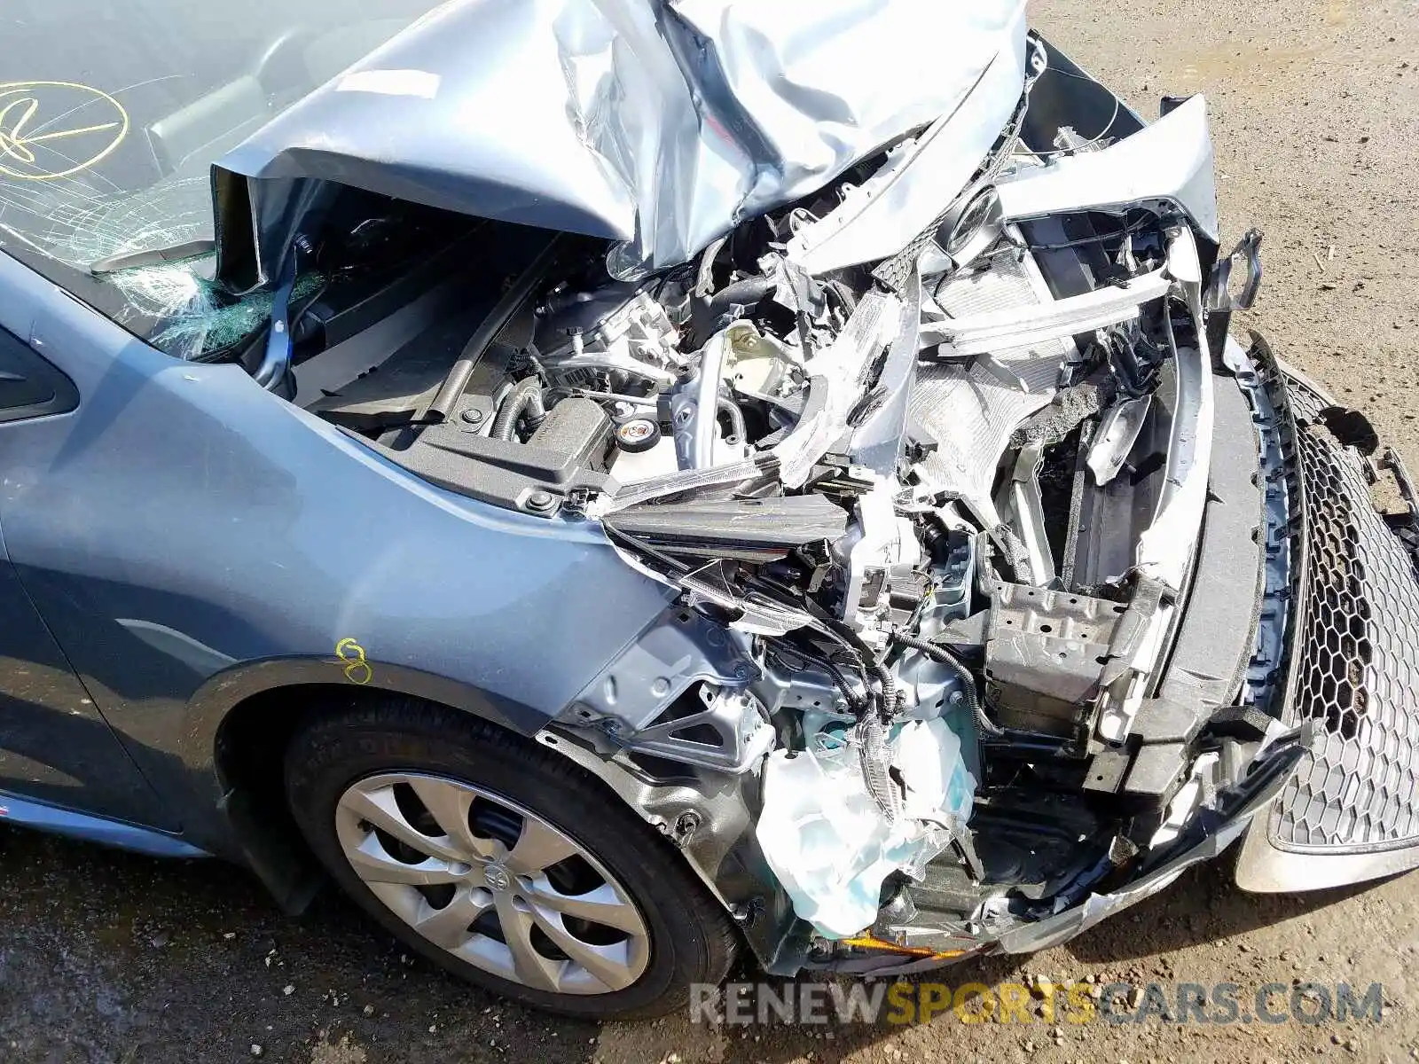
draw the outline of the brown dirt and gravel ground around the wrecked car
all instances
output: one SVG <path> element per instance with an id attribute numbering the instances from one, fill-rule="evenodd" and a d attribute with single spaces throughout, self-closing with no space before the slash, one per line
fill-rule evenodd
<path id="1" fill-rule="evenodd" d="M 1252 325 L 1419 468 L 1419 4 L 1049 0 L 1034 23 L 1135 106 L 1210 101 L 1225 230 L 1266 231 Z M 725 1030 L 552 1021 L 400 953 L 343 902 L 289 919 L 244 872 L 0 833 L 0 1061 L 1419 1060 L 1413 877 L 1301 899 L 1223 867 L 1066 948 L 941 977 L 1382 982 L 1381 1024 Z"/>

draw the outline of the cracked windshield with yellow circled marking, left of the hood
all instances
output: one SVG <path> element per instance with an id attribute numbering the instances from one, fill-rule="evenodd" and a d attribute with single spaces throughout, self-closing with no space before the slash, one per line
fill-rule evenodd
<path id="1" fill-rule="evenodd" d="M 7 0 L 0 241 L 75 267 L 213 237 L 210 166 L 436 0 Z"/>

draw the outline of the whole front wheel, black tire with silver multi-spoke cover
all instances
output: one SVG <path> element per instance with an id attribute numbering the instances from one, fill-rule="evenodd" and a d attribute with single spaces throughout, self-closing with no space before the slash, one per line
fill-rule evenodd
<path id="1" fill-rule="evenodd" d="M 668 843 L 579 766 L 467 714 L 402 698 L 331 706 L 292 736 L 285 787 L 350 898 L 504 997 L 579 1019 L 661 1016 L 734 960 L 732 921 Z M 379 881 L 424 870 L 438 882 Z"/>

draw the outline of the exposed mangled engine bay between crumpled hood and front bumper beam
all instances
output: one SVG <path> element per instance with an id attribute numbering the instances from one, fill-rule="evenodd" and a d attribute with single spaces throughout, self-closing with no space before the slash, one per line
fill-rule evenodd
<path id="1" fill-rule="evenodd" d="M 599 522 L 671 589 L 548 735 L 714 837 L 761 953 L 802 921 L 785 970 L 971 952 L 1137 878 L 1283 731 L 1237 675 L 1161 684 L 1259 237 L 1215 268 L 1166 163 L 1156 196 L 1086 189 L 1149 138 L 1210 167 L 1202 99 L 1086 139 L 1029 119 L 1051 60 L 1032 38 L 1010 125 L 893 257 L 834 241 L 918 138 L 650 275 L 535 234 L 451 369 L 420 348 L 309 404 L 436 484 Z"/>

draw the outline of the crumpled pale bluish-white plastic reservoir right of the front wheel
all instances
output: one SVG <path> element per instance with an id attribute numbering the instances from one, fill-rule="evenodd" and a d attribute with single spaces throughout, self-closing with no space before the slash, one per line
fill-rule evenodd
<path id="1" fill-rule="evenodd" d="M 776 750 L 763 767 L 759 847 L 793 911 L 827 938 L 871 926 L 887 875 L 920 878 L 971 816 L 975 779 L 944 721 L 908 721 L 887 749 L 905 782 L 895 823 L 867 793 L 857 746 L 841 736 L 819 732 L 807 750 Z"/>

